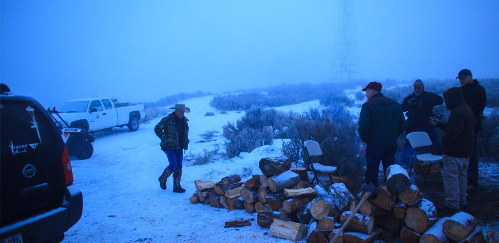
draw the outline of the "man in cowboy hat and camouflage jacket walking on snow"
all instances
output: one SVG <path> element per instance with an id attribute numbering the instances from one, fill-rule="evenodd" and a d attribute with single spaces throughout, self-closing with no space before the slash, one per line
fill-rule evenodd
<path id="1" fill-rule="evenodd" d="M 183 149 L 187 150 L 189 144 L 189 126 L 185 113 L 191 109 L 184 104 L 175 104 L 170 115 L 161 119 L 154 127 L 154 132 L 161 139 L 161 150 L 165 152 L 170 163 L 163 174 L 158 178 L 161 189 L 166 190 L 166 179 L 173 173 L 173 192 L 184 193 L 186 190 L 180 186 L 182 178 Z"/>

